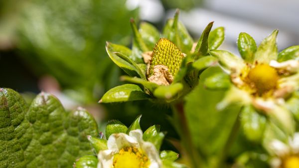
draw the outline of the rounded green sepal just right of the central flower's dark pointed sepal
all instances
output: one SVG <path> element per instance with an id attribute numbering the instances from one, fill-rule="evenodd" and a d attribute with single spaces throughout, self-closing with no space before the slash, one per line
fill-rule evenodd
<path id="1" fill-rule="evenodd" d="M 209 49 L 217 49 L 224 41 L 224 27 L 217 27 L 209 34 Z"/>

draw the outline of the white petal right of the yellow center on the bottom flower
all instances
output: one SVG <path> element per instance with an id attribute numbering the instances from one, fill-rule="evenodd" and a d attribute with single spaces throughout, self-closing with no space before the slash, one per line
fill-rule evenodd
<path id="1" fill-rule="evenodd" d="M 162 162 L 159 157 L 159 153 L 150 142 L 143 142 L 142 150 L 147 154 L 150 165 L 149 168 L 162 168 Z"/>

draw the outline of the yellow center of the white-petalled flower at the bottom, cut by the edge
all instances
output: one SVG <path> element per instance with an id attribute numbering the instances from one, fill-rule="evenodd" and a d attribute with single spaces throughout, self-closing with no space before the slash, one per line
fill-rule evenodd
<path id="1" fill-rule="evenodd" d="M 114 155 L 113 168 L 149 168 L 149 159 L 137 148 L 126 147 Z"/>

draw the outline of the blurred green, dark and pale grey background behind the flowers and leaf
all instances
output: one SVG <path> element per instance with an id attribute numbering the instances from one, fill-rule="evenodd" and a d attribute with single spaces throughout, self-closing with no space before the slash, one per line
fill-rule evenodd
<path id="1" fill-rule="evenodd" d="M 225 27 L 221 48 L 238 54 L 240 32 L 260 43 L 278 28 L 282 50 L 299 44 L 298 6 L 298 0 L 0 0 L 0 87 L 22 93 L 27 102 L 40 91 L 50 92 L 67 110 L 87 108 L 100 126 L 109 119 L 128 125 L 143 114 L 144 128 L 161 124 L 177 137 L 165 117 L 155 118 L 170 115 L 168 107 L 149 101 L 97 103 L 124 74 L 109 59 L 105 42 L 130 46 L 130 18 L 161 29 L 180 8 L 180 20 L 195 39 L 215 21 L 214 27 Z"/>

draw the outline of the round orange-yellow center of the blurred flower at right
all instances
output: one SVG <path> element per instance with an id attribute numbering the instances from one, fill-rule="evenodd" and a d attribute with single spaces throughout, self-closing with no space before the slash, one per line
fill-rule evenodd
<path id="1" fill-rule="evenodd" d="M 248 83 L 258 95 L 262 95 L 277 87 L 279 79 L 275 68 L 267 64 L 258 64 L 248 73 Z"/>

